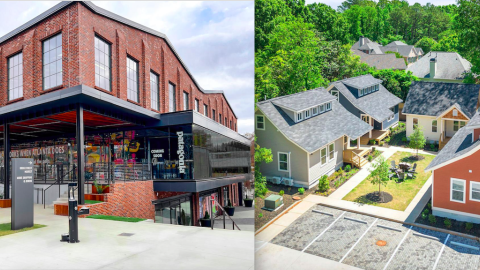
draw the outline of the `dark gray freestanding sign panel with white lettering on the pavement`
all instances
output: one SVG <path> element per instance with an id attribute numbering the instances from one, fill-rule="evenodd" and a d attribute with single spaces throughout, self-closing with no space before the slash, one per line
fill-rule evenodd
<path id="1" fill-rule="evenodd" d="M 12 230 L 33 226 L 33 159 L 12 159 Z"/>

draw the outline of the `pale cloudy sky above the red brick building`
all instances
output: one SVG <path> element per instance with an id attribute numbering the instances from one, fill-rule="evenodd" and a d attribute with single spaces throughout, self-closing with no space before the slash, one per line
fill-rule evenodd
<path id="1" fill-rule="evenodd" d="M 57 3 L 0 1 L 0 36 Z M 204 89 L 225 91 L 239 133 L 253 132 L 253 1 L 93 3 L 165 33 Z"/>

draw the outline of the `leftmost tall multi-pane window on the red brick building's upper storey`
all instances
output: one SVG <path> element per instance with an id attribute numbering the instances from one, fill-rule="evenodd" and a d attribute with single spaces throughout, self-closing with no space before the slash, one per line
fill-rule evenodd
<path id="1" fill-rule="evenodd" d="M 23 97 L 23 53 L 8 58 L 8 100 Z"/>

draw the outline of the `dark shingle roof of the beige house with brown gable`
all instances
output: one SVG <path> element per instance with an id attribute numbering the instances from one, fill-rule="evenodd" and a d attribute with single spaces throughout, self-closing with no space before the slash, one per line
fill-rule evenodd
<path id="1" fill-rule="evenodd" d="M 472 118 L 475 114 L 479 91 L 478 84 L 412 82 L 403 113 L 438 117 L 457 104 L 468 118 Z"/>

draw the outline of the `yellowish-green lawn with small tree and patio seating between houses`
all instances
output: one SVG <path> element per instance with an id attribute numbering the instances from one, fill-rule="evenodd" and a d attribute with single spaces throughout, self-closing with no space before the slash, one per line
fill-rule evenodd
<path id="1" fill-rule="evenodd" d="M 392 180 L 388 182 L 387 186 L 381 187 L 382 191 L 386 191 L 393 196 L 392 201 L 388 203 L 376 203 L 366 198 L 366 195 L 368 193 L 378 191 L 378 185 L 372 185 L 369 181 L 369 177 L 365 178 L 365 180 L 363 180 L 358 186 L 352 189 L 352 191 L 350 191 L 350 193 L 348 193 L 347 196 L 343 198 L 343 200 L 371 204 L 400 211 L 405 210 L 408 204 L 410 204 L 415 195 L 417 195 L 418 191 L 422 188 L 422 186 L 432 174 L 431 172 L 424 172 L 424 169 L 435 157 L 433 155 L 421 155 L 424 156 L 425 159 L 412 162 L 408 159 L 408 157 L 410 157 L 411 155 L 412 153 L 409 152 L 396 152 L 388 159 L 389 166 L 392 160 L 395 160 L 395 163 L 397 165 L 400 161 L 411 163 L 412 166 L 413 163 L 417 163 L 418 172 L 415 178 L 408 178 L 398 183 L 397 181 L 395 181 L 398 180 L 396 176 L 392 177 Z"/>

